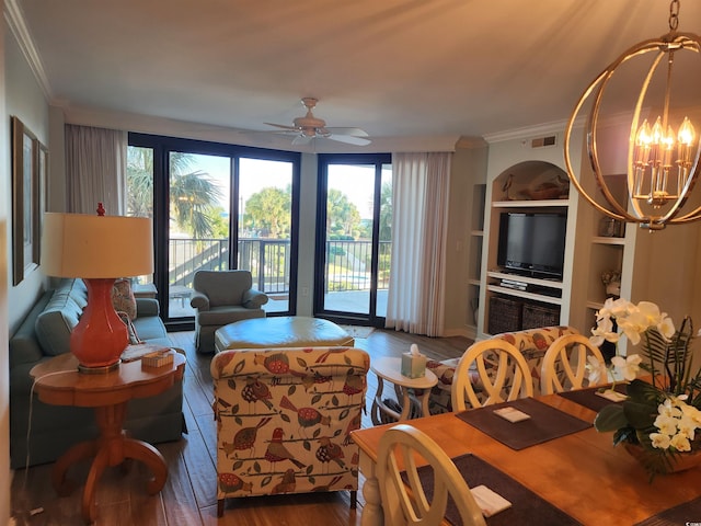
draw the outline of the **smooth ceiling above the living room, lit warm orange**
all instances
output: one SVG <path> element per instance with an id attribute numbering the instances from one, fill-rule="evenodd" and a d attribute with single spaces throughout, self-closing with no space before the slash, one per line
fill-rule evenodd
<path id="1" fill-rule="evenodd" d="M 291 124 L 315 96 L 318 117 L 374 145 L 565 121 L 605 66 L 668 31 L 669 13 L 667 0 L 7 3 L 67 115 L 163 117 L 196 137 Z M 701 1 L 682 2 L 679 30 L 701 32 Z"/>

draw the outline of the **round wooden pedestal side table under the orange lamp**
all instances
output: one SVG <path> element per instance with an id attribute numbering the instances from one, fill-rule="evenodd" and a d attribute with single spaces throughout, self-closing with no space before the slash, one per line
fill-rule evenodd
<path id="1" fill-rule="evenodd" d="M 146 490 L 156 494 L 163 488 L 168 465 L 158 449 L 146 442 L 126 436 L 123 428 L 127 402 L 147 398 L 169 389 L 183 378 L 185 356 L 173 352 L 173 362 L 162 367 L 141 367 L 141 361 L 119 364 L 106 374 L 78 371 L 78 359 L 70 353 L 57 356 L 32 368 L 35 391 L 44 403 L 94 408 L 100 436 L 70 447 L 54 466 L 51 482 L 59 495 L 67 495 L 74 484 L 66 479 L 70 466 L 94 457 L 82 500 L 82 514 L 87 523 L 97 515 L 95 487 L 107 466 L 118 466 L 127 458 L 146 464 L 153 478 Z"/>

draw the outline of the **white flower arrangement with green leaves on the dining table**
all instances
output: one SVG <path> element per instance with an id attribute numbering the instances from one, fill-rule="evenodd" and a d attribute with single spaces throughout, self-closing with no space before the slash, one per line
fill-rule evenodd
<path id="1" fill-rule="evenodd" d="M 637 305 L 609 298 L 597 312 L 594 345 L 628 338 L 640 353 L 611 359 L 613 378 L 628 380 L 622 403 L 599 411 L 594 426 L 613 432 L 613 445 L 623 444 L 652 477 L 687 469 L 701 461 L 701 368 L 692 371 L 691 319 L 679 330 L 657 305 Z M 590 364 L 591 367 L 591 364 Z M 643 369 L 648 381 L 636 379 Z M 601 375 L 591 367 L 591 375 Z"/>

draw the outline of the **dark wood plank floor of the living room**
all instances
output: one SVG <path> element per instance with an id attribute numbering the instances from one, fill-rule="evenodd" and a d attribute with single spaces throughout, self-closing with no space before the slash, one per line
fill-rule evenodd
<path id="1" fill-rule="evenodd" d="M 349 510 L 347 492 L 302 495 L 257 496 L 227 500 L 222 518 L 217 518 L 216 431 L 210 407 L 210 356 L 195 353 L 192 332 L 170 334 L 173 345 L 187 353 L 185 400 L 183 412 L 188 433 L 175 443 L 158 444 L 169 465 L 169 478 L 159 495 L 146 494 L 148 472 L 135 462 L 128 471 L 107 469 L 96 491 L 97 525 L 255 525 L 255 526 L 324 526 L 359 525 L 363 494 L 358 492 L 357 510 Z M 412 343 L 433 358 L 456 357 L 471 343 L 464 338 L 432 339 L 393 331 L 375 330 L 366 339 L 356 339 L 356 346 L 370 356 L 399 356 Z M 368 376 L 368 400 L 377 388 L 377 377 Z M 364 415 L 363 426 L 371 426 Z M 66 498 L 58 498 L 50 483 L 53 464 L 14 472 L 12 511 L 16 525 L 81 525 L 80 503 L 83 487 Z M 88 462 L 69 471 L 76 481 L 84 481 Z M 363 477 L 360 477 L 363 484 Z"/>

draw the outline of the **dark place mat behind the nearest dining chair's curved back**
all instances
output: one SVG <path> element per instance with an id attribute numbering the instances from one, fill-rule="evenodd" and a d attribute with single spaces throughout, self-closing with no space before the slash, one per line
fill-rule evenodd
<path id="1" fill-rule="evenodd" d="M 489 526 L 567 526 L 577 521 L 553 506 L 508 474 L 485 462 L 480 457 L 467 454 L 452 459 L 470 488 L 484 484 L 512 503 L 512 507 L 485 518 Z M 434 477 L 430 466 L 418 468 L 418 477 L 428 500 L 433 500 Z M 406 479 L 404 478 L 406 481 Z M 448 499 L 446 519 L 453 525 L 462 524 L 452 498 Z"/>

